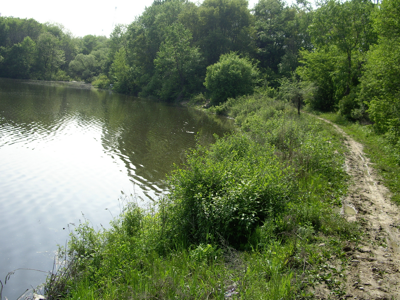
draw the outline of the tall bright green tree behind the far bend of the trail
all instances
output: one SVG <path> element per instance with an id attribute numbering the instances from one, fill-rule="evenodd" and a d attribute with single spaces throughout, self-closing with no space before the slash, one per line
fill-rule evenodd
<path id="1" fill-rule="evenodd" d="M 323 57 L 330 62 L 331 58 L 336 60 L 333 64 L 334 70 L 330 70 L 334 72 L 334 76 L 329 81 L 334 83 L 334 100 L 332 93 L 329 93 L 328 98 L 317 99 L 319 103 L 327 103 L 320 107 L 332 108 L 333 104 L 349 95 L 352 88 L 359 84 L 366 53 L 370 45 L 376 42 L 371 18 L 373 10 L 374 4 L 367 0 L 327 0 L 315 11 L 309 30 L 316 49 L 312 54 L 305 55 L 307 67 L 310 68 L 308 73 L 326 72 L 326 68 L 320 65 Z M 314 75 L 316 76 L 327 77 L 326 74 Z M 320 88 L 321 81 L 316 83 Z M 322 84 L 321 88 L 327 90 L 326 84 Z M 317 94 L 327 96 L 325 92 Z"/>

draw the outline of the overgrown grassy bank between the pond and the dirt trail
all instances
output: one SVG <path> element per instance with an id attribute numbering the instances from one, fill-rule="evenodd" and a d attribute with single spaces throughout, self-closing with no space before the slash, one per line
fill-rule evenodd
<path id="1" fill-rule="evenodd" d="M 251 96 L 214 112 L 242 130 L 197 146 L 146 208 L 135 197 L 110 229 L 72 228 L 48 299 L 308 299 L 342 296 L 356 224 L 341 136 L 288 103 Z"/>

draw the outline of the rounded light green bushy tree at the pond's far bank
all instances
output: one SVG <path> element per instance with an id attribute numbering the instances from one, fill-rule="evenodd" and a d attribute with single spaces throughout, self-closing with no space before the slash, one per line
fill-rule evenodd
<path id="1" fill-rule="evenodd" d="M 252 93 L 257 75 L 258 70 L 248 58 L 231 52 L 207 67 L 204 86 L 210 91 L 212 103 L 219 104 L 228 98 Z"/>

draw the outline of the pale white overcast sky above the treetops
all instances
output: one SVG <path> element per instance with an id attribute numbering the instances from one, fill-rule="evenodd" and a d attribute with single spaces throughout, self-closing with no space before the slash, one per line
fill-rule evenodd
<path id="1" fill-rule="evenodd" d="M 250 0 L 252 8 L 258 0 Z M 75 36 L 87 34 L 110 36 L 118 23 L 130 24 L 153 0 L 4 0 L 0 4 L 2 16 L 34 18 L 40 23 L 57 22 Z"/>

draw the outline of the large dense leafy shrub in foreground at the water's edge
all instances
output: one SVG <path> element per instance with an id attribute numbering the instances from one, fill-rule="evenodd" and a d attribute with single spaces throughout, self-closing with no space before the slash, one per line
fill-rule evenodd
<path id="1" fill-rule="evenodd" d="M 238 246 L 266 218 L 284 212 L 294 173 L 274 150 L 241 133 L 217 140 L 210 150 L 193 150 L 186 167 L 170 178 L 174 234 L 191 243 L 222 237 Z"/>

